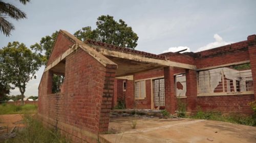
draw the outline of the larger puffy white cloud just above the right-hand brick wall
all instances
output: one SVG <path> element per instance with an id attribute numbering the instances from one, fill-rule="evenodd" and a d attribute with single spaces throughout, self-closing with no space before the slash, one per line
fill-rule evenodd
<path id="1" fill-rule="evenodd" d="M 224 45 L 228 45 L 231 44 L 232 42 L 226 42 L 222 39 L 222 37 L 220 37 L 218 34 L 214 35 L 214 39 L 215 42 L 209 43 L 203 47 L 200 47 L 197 49 L 196 52 L 198 51 L 203 51 L 203 50 L 208 50 L 208 49 L 212 49 L 212 48 L 216 48 L 216 47 L 220 47 L 220 46 L 224 46 Z"/>

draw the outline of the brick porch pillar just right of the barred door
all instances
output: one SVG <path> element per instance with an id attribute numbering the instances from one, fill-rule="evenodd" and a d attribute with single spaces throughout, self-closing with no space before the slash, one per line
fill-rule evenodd
<path id="1" fill-rule="evenodd" d="M 174 67 L 164 68 L 164 96 L 165 109 L 174 114 L 177 102 L 175 96 Z"/>

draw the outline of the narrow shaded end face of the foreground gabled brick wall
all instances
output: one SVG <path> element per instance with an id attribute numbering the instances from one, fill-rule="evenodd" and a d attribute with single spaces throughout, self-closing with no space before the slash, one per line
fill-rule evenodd
<path id="1" fill-rule="evenodd" d="M 104 88 L 99 116 L 99 132 L 106 132 L 109 129 L 110 111 L 114 95 L 114 80 L 117 65 L 107 65 L 105 72 Z"/>

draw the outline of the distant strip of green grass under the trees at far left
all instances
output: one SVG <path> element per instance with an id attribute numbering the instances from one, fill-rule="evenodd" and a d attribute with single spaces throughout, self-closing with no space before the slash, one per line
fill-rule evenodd
<path id="1" fill-rule="evenodd" d="M 37 106 L 32 104 L 26 104 L 24 106 L 12 105 L 12 104 L 1 104 L 0 115 L 4 114 L 24 114 L 24 113 L 36 113 Z"/>

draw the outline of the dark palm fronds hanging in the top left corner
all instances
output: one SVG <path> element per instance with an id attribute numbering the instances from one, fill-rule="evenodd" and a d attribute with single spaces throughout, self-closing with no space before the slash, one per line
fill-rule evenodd
<path id="1" fill-rule="evenodd" d="M 30 0 L 19 0 L 20 3 L 26 5 Z M 6 20 L 6 17 L 11 17 L 15 20 L 27 18 L 26 13 L 19 10 L 15 6 L 9 3 L 5 3 L 0 0 L 0 31 L 6 36 L 11 35 L 11 31 L 14 30 L 14 26 L 11 22 Z"/>

